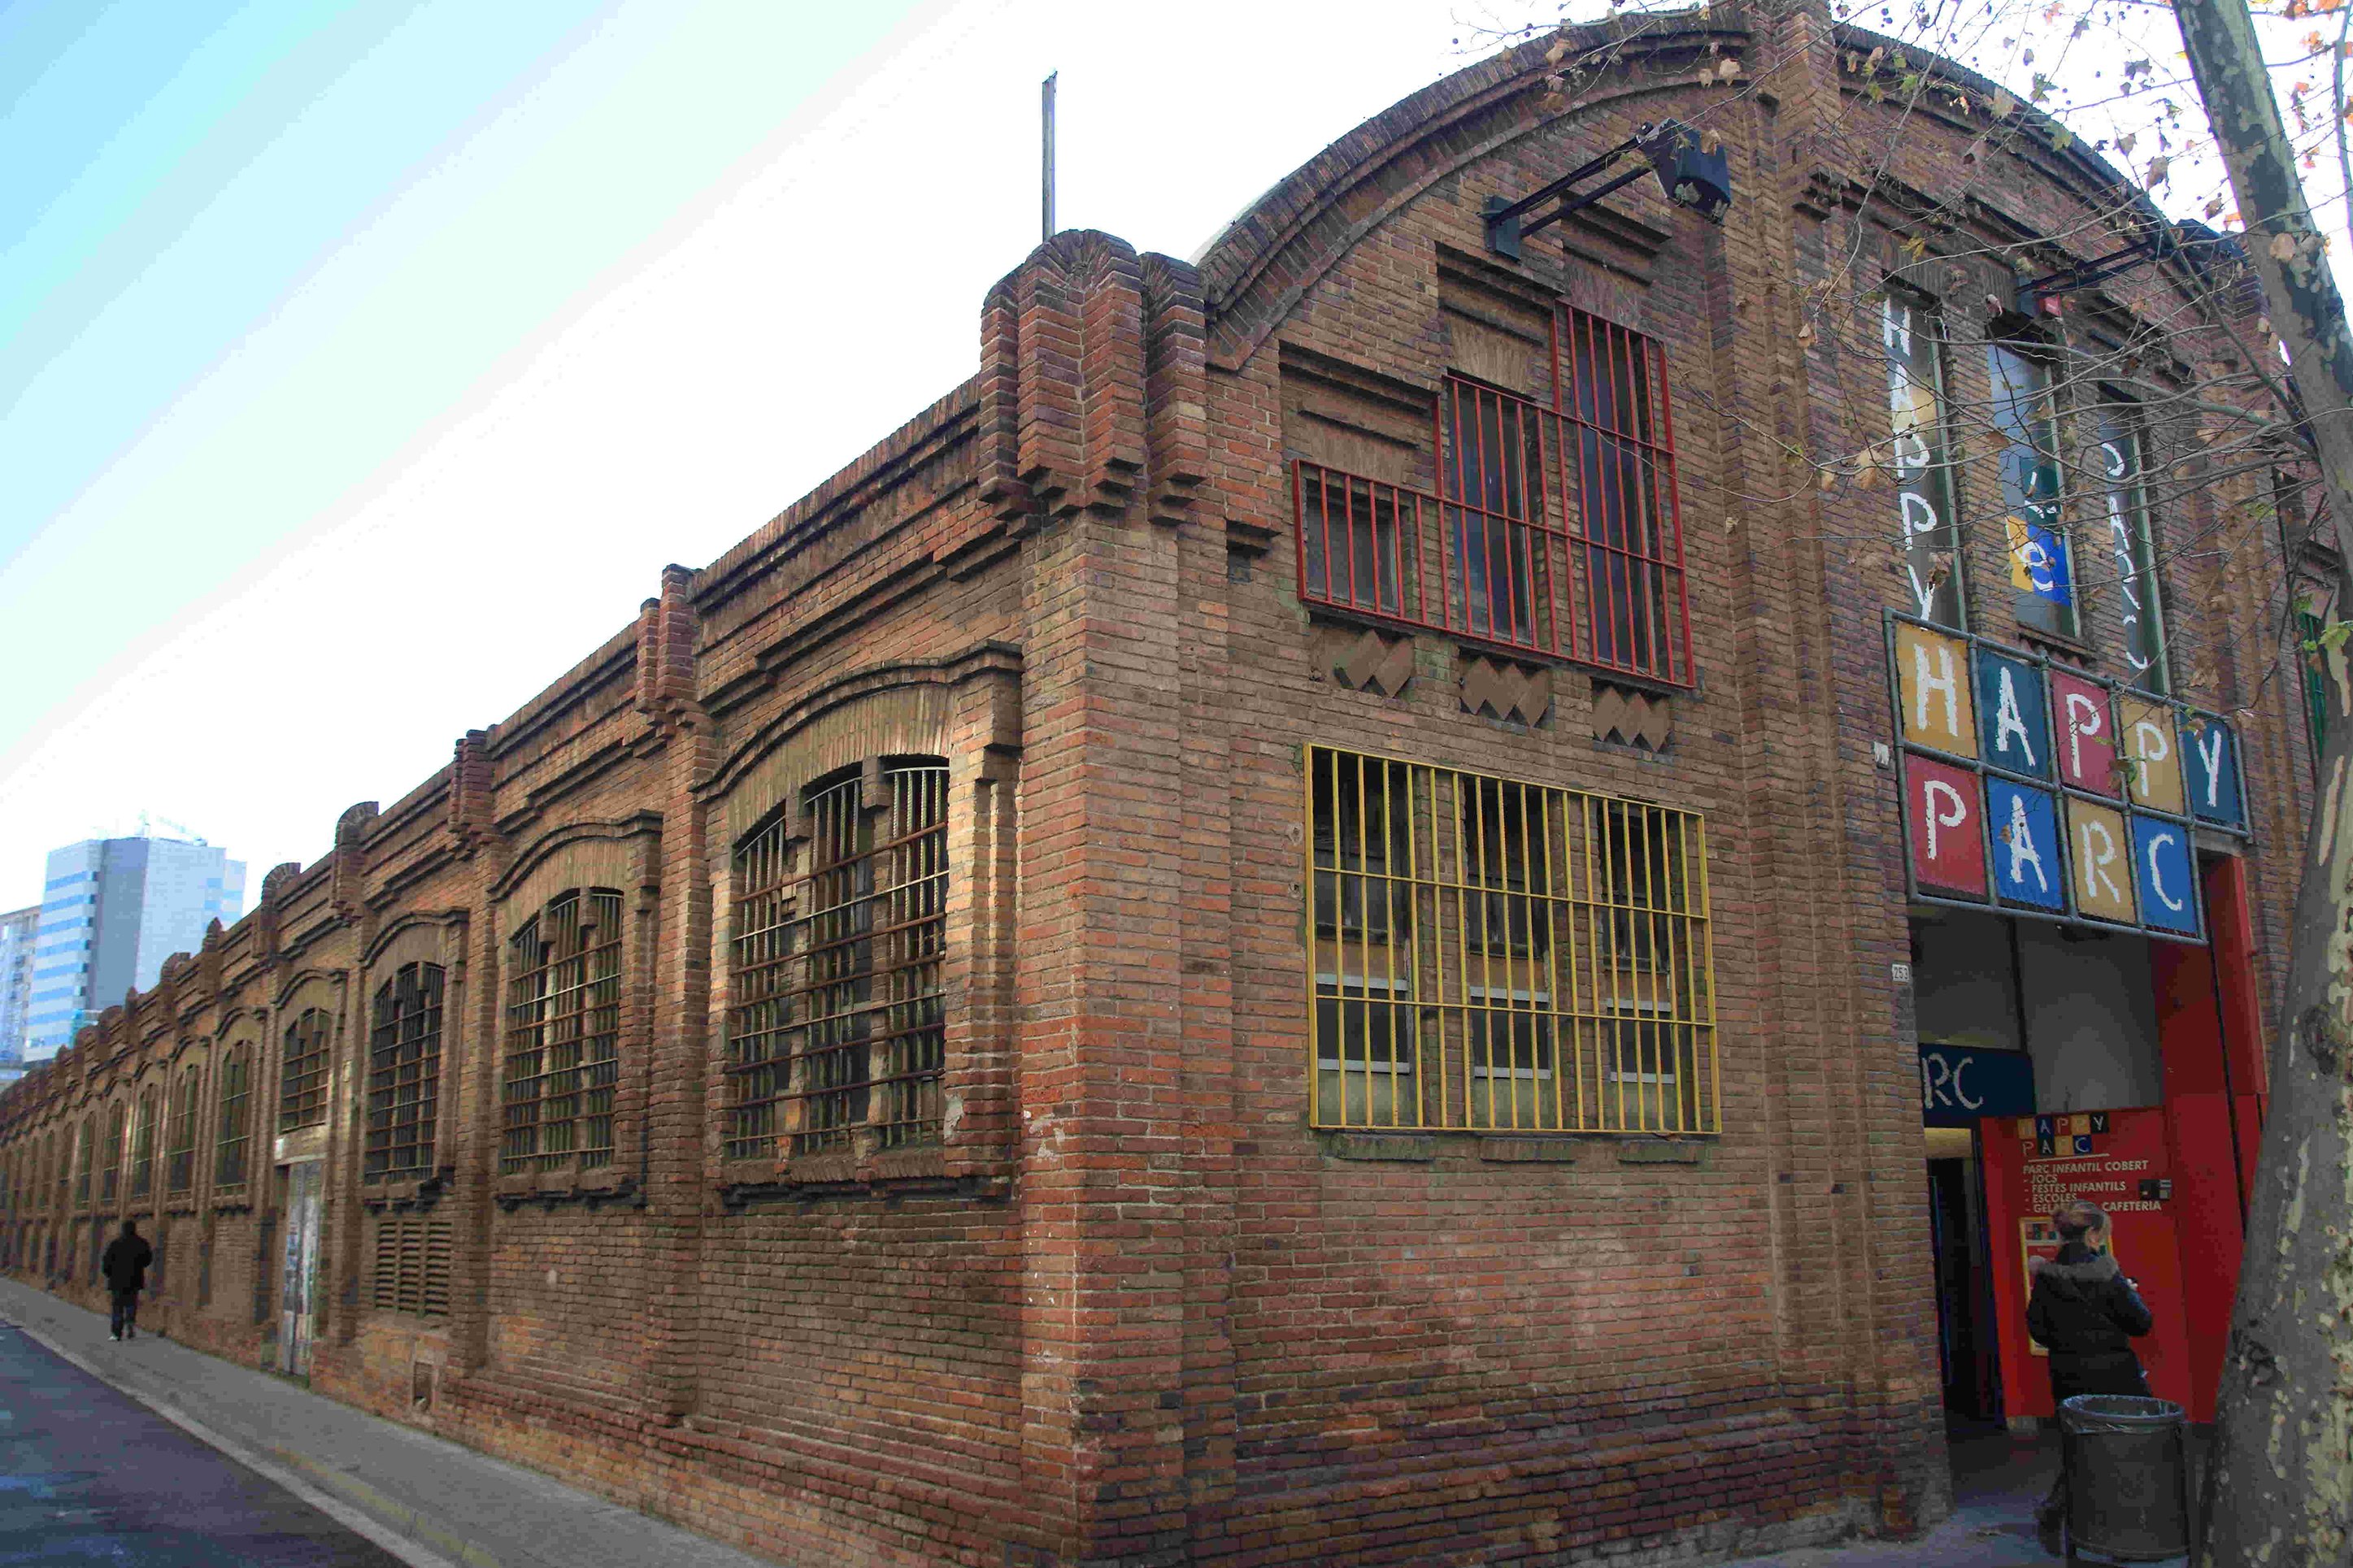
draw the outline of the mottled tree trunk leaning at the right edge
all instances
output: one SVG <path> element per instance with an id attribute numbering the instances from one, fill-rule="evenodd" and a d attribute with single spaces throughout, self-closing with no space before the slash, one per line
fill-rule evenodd
<path id="1" fill-rule="evenodd" d="M 2353 562 L 2353 339 L 2254 21 L 2245 0 L 2188 0 L 2177 16 Z M 2353 616 L 2353 583 L 2339 581 L 2337 616 Z M 2353 1561 L 2353 677 L 2344 649 L 2327 665 L 2329 736 L 2200 1509 L 2212 1568 Z"/>

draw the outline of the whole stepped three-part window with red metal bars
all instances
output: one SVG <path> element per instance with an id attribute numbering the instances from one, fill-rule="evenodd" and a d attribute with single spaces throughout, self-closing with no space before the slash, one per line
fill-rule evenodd
<path id="1" fill-rule="evenodd" d="M 1299 597 L 1692 684 L 1666 350 L 1553 315 L 1551 404 L 1449 374 L 1438 491 L 1294 465 Z"/>

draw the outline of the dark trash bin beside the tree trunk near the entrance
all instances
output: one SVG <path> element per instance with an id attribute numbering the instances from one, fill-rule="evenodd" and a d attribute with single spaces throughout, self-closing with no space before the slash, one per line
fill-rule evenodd
<path id="1" fill-rule="evenodd" d="M 2191 1552 L 2188 1420 L 2172 1399 L 2078 1394 L 2059 1406 L 2068 1556 L 2155 1563 Z"/>

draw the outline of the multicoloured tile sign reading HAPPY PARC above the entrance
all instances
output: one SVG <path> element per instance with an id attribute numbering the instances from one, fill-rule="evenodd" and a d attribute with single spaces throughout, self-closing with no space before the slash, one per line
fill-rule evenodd
<path id="1" fill-rule="evenodd" d="M 2205 940 L 2198 827 L 2247 832 L 2209 712 L 1889 616 L 1911 891 Z"/>

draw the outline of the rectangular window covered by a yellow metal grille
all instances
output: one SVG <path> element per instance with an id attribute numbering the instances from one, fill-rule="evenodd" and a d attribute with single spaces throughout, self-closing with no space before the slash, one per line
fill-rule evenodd
<path id="1" fill-rule="evenodd" d="M 1315 1126 L 1715 1133 L 1699 813 L 1308 748 Z"/>

